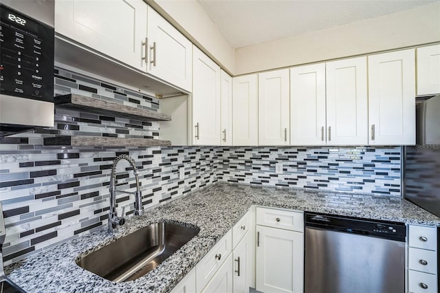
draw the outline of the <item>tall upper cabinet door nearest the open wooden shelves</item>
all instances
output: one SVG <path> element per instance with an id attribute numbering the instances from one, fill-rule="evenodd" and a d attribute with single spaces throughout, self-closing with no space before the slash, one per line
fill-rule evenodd
<path id="1" fill-rule="evenodd" d="M 194 144 L 221 140 L 220 67 L 197 47 L 192 50 L 192 123 Z"/>

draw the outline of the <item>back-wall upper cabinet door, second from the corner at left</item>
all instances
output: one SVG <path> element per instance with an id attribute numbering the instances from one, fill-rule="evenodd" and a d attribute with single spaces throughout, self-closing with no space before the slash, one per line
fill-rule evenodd
<path id="1" fill-rule="evenodd" d="M 288 145 L 289 69 L 259 74 L 259 145 Z"/>

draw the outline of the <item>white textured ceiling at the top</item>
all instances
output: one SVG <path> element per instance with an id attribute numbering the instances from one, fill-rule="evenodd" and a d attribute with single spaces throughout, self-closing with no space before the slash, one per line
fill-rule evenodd
<path id="1" fill-rule="evenodd" d="M 440 0 L 197 0 L 232 47 L 379 17 Z"/>

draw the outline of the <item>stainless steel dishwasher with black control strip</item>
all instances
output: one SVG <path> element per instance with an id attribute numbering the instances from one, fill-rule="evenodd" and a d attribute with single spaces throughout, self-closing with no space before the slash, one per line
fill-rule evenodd
<path id="1" fill-rule="evenodd" d="M 305 213 L 305 293 L 404 293 L 406 226 Z"/>

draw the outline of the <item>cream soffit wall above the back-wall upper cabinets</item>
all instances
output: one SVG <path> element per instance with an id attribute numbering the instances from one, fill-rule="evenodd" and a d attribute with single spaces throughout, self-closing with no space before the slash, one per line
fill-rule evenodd
<path id="1" fill-rule="evenodd" d="M 440 41 L 440 3 L 236 48 L 234 74 Z"/>

